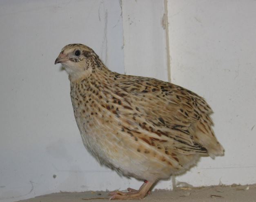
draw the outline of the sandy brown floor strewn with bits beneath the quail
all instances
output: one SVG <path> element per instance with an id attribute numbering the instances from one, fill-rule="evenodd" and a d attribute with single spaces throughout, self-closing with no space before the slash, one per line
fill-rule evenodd
<path id="1" fill-rule="evenodd" d="M 174 191 L 153 191 L 149 202 L 256 202 L 256 184 L 246 186 L 180 187 Z M 107 202 L 107 192 L 52 193 L 20 202 Z M 129 202 L 138 200 L 129 200 Z"/>

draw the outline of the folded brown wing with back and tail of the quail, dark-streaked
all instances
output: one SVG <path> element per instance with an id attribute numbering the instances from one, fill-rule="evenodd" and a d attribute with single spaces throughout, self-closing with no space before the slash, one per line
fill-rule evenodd
<path id="1" fill-rule="evenodd" d="M 119 74 L 116 78 L 128 107 L 136 109 L 133 120 L 139 122 L 144 131 L 142 140 L 163 147 L 165 153 L 175 150 L 186 155 L 200 153 L 211 157 L 223 154 L 211 129 L 212 110 L 202 97 L 154 78 Z"/>

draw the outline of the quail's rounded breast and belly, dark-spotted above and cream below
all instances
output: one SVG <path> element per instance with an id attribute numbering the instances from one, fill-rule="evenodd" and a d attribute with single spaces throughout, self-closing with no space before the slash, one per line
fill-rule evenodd
<path id="1" fill-rule="evenodd" d="M 169 177 L 170 165 L 177 162 L 171 163 L 161 152 L 152 150 L 134 121 L 131 107 L 118 99 L 120 95 L 113 101 L 110 89 L 99 89 L 86 79 L 71 83 L 70 95 L 82 141 L 100 163 L 135 178 Z"/>

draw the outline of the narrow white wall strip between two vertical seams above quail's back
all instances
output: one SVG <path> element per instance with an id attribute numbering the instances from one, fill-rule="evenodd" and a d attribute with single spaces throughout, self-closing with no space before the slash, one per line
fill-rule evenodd
<path id="1" fill-rule="evenodd" d="M 122 1 L 125 73 L 168 80 L 164 0 Z"/>

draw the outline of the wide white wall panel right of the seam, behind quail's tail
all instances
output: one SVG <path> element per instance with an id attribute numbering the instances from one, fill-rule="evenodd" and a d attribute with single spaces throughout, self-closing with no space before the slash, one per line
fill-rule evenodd
<path id="1" fill-rule="evenodd" d="M 168 0 L 171 81 L 202 95 L 225 148 L 177 177 L 256 183 L 256 1 Z"/>

